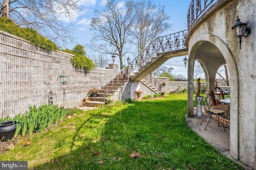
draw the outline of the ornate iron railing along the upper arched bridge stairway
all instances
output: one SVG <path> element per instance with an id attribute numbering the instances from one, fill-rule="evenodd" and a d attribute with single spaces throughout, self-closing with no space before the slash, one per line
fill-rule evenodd
<path id="1" fill-rule="evenodd" d="M 158 53 L 186 49 L 185 42 L 188 33 L 187 31 L 188 30 L 184 30 L 156 38 L 129 63 L 130 72 L 138 72 L 138 69 L 142 69 L 143 65 L 147 65 L 147 62 L 152 61 L 152 58 L 157 57 Z"/>

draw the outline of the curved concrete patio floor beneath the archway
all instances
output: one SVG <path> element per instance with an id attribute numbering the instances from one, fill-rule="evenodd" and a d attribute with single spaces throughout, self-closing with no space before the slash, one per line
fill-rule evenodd
<path id="1" fill-rule="evenodd" d="M 200 123 L 204 119 L 204 117 L 195 117 L 196 116 L 196 108 L 193 111 L 194 117 L 188 117 L 186 114 L 186 121 L 188 126 L 197 134 L 199 134 L 206 142 L 210 143 L 214 148 L 220 151 L 224 156 L 233 159 L 230 156 L 230 128 L 218 127 L 217 121 L 212 120 L 208 124 L 206 130 L 207 121 L 203 122 L 202 125 Z M 248 166 L 242 164 L 245 170 L 252 170 Z"/>

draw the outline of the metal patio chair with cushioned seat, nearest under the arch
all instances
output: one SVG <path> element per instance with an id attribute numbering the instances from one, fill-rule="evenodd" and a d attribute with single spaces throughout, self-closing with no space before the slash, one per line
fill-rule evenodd
<path id="1" fill-rule="evenodd" d="M 225 113 L 227 113 L 227 111 L 225 109 L 223 109 L 223 110 L 211 109 L 207 102 L 207 99 L 209 98 L 209 96 L 210 96 L 210 94 L 206 95 L 206 97 L 202 96 L 202 106 L 204 108 L 206 115 L 205 115 L 204 119 L 202 120 L 202 122 L 200 123 L 200 125 L 202 125 L 203 121 L 207 121 L 208 118 L 209 118 L 208 123 L 212 119 L 216 118 L 216 121 L 218 122 L 218 127 L 220 127 L 220 116 L 222 116 L 224 118 Z M 212 115 L 214 115 L 214 117 L 212 117 Z M 207 123 L 206 127 L 208 126 L 208 123 Z M 226 131 L 223 124 L 222 124 L 222 126 L 223 126 L 224 131 Z M 204 128 L 204 130 L 206 130 L 206 127 Z"/>

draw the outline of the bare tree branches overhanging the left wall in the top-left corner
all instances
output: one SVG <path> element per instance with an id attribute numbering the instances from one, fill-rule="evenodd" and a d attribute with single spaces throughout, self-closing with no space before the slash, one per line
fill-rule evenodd
<path id="1" fill-rule="evenodd" d="M 0 0 L 0 16 L 14 20 L 18 26 L 33 28 L 42 36 L 62 45 L 73 41 L 73 27 L 64 26 L 60 16 L 74 18 L 80 0 Z M 6 5 L 7 4 L 7 5 Z"/>

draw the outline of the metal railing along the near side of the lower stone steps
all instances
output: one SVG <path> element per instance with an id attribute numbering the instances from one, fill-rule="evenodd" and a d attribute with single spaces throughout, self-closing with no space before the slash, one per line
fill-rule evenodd
<path id="1" fill-rule="evenodd" d="M 114 88 L 117 87 L 117 85 L 121 81 L 123 81 L 125 78 L 128 78 L 127 76 L 129 76 L 128 66 L 125 66 L 122 70 L 116 73 L 116 75 L 114 75 L 107 83 L 103 85 L 102 87 L 104 90 L 103 101 L 105 101 L 106 96 L 109 95 L 110 92 L 113 91 Z"/>

